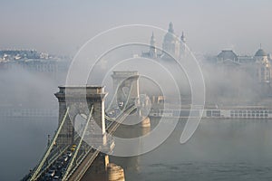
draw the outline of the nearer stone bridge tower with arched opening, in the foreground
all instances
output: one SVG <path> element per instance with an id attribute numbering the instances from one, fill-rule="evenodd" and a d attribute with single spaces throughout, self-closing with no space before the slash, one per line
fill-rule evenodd
<path id="1" fill-rule="evenodd" d="M 96 121 L 101 128 L 97 135 L 104 135 L 105 119 L 104 119 L 104 100 L 107 92 L 104 92 L 102 86 L 59 86 L 59 91 L 54 94 L 59 101 L 59 124 L 63 120 L 67 107 L 70 108 L 69 116 L 63 125 L 63 129 L 59 135 L 58 143 L 60 145 L 73 144 L 75 130 L 74 121 L 78 114 L 88 115 L 89 110 L 93 106 L 92 119 Z M 101 140 L 102 141 L 102 140 Z"/>

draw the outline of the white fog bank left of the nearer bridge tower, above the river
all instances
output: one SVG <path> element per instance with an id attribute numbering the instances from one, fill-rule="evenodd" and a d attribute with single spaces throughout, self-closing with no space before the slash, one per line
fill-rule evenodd
<path id="1" fill-rule="evenodd" d="M 43 73 L 20 67 L 0 72 L 1 106 L 21 108 L 55 108 L 53 96 L 58 82 Z"/>

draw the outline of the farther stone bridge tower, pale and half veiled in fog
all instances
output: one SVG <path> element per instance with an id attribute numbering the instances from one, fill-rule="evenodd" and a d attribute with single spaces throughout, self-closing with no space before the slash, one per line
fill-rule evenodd
<path id="1" fill-rule="evenodd" d="M 139 100 L 138 71 L 113 71 L 112 81 L 117 103 L 130 105 Z"/>

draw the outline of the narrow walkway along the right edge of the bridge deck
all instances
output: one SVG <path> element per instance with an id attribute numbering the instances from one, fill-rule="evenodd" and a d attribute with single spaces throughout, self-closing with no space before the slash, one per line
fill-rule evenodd
<path id="1" fill-rule="evenodd" d="M 136 110 L 137 107 L 132 105 L 128 107 L 126 110 L 122 111 L 122 113 L 115 119 L 115 121 L 112 121 L 111 124 L 108 125 L 107 132 L 108 134 L 112 135 L 113 132 L 115 132 L 116 129 L 121 125 L 121 122 L 127 118 L 128 115 L 131 114 L 133 110 Z M 110 145 L 111 147 L 111 145 Z M 67 180 L 71 181 L 78 181 L 81 180 L 81 178 L 84 176 L 85 172 L 88 170 L 89 167 L 92 166 L 92 162 L 98 155 L 100 154 L 101 149 L 98 148 L 95 151 L 91 149 L 89 152 L 87 152 L 86 156 L 83 157 L 81 163 L 78 163 L 76 167 L 71 170 L 72 172 L 69 173 L 67 176 Z"/>

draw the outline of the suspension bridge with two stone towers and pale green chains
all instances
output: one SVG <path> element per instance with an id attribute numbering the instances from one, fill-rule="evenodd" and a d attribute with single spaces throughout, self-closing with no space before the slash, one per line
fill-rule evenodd
<path id="1" fill-rule="evenodd" d="M 111 135 L 139 104 L 137 71 L 113 71 L 112 100 L 102 86 L 60 86 L 59 124 L 44 156 L 22 180 L 81 180 L 89 167 L 105 170 Z M 110 136 L 109 136 L 110 135 Z"/>

